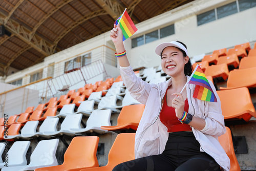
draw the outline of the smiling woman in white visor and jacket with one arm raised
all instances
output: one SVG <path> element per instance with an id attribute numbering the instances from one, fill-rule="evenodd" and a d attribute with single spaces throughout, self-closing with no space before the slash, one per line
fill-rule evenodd
<path id="1" fill-rule="evenodd" d="M 214 85 L 209 81 L 218 102 L 193 98 L 194 84 L 187 84 L 179 93 L 192 73 L 186 46 L 180 41 L 157 46 L 162 70 L 171 78 L 149 84 L 134 74 L 119 26 L 114 25 L 110 37 L 126 88 L 145 104 L 135 137 L 136 159 L 113 171 L 229 170 L 230 160 L 218 141 L 226 129 Z"/>

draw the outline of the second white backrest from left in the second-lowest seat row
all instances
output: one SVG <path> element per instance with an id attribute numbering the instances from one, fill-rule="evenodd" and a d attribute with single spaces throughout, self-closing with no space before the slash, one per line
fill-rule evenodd
<path id="1" fill-rule="evenodd" d="M 39 127 L 39 132 L 56 132 L 59 118 L 46 118 Z"/>

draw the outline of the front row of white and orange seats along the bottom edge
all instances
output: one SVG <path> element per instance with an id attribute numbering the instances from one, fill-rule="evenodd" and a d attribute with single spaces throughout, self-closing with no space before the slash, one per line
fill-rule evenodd
<path id="1" fill-rule="evenodd" d="M 226 133 L 219 137 L 222 147 L 225 149 L 230 161 L 230 170 L 240 170 L 236 155 L 232 145 L 232 136 L 230 129 L 226 127 Z M 117 164 L 133 160 L 135 133 L 118 134 L 108 157 L 108 164 L 99 167 L 96 152 L 99 137 L 86 136 L 74 137 L 69 144 L 65 154 L 64 161 L 61 165 L 57 165 L 55 156 L 58 139 L 41 140 L 36 145 L 30 156 L 30 163 L 27 165 L 26 153 L 28 151 L 30 141 L 16 141 L 8 151 L 8 167 L 5 162 L 0 166 L 3 171 L 8 170 L 112 170 Z M 0 143 L 0 153 L 3 154 L 5 148 L 4 143 Z M 47 152 L 47 153 L 46 153 Z"/>

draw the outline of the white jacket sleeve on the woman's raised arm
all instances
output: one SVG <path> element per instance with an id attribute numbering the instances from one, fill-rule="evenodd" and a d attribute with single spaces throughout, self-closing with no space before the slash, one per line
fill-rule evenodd
<path id="1" fill-rule="evenodd" d="M 142 104 L 146 104 L 148 95 L 151 91 L 151 84 L 143 81 L 141 78 L 137 77 L 133 72 L 131 66 L 120 67 L 120 74 L 125 87 L 131 93 L 131 96 Z"/>

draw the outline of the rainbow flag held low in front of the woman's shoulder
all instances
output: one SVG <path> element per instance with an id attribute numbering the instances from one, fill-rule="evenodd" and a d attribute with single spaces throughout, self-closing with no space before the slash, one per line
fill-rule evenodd
<path id="1" fill-rule="evenodd" d="M 191 74 L 188 83 L 196 85 L 195 92 L 193 94 L 194 98 L 217 102 L 214 91 L 212 91 L 210 84 L 199 65 L 197 65 L 194 72 Z"/>

